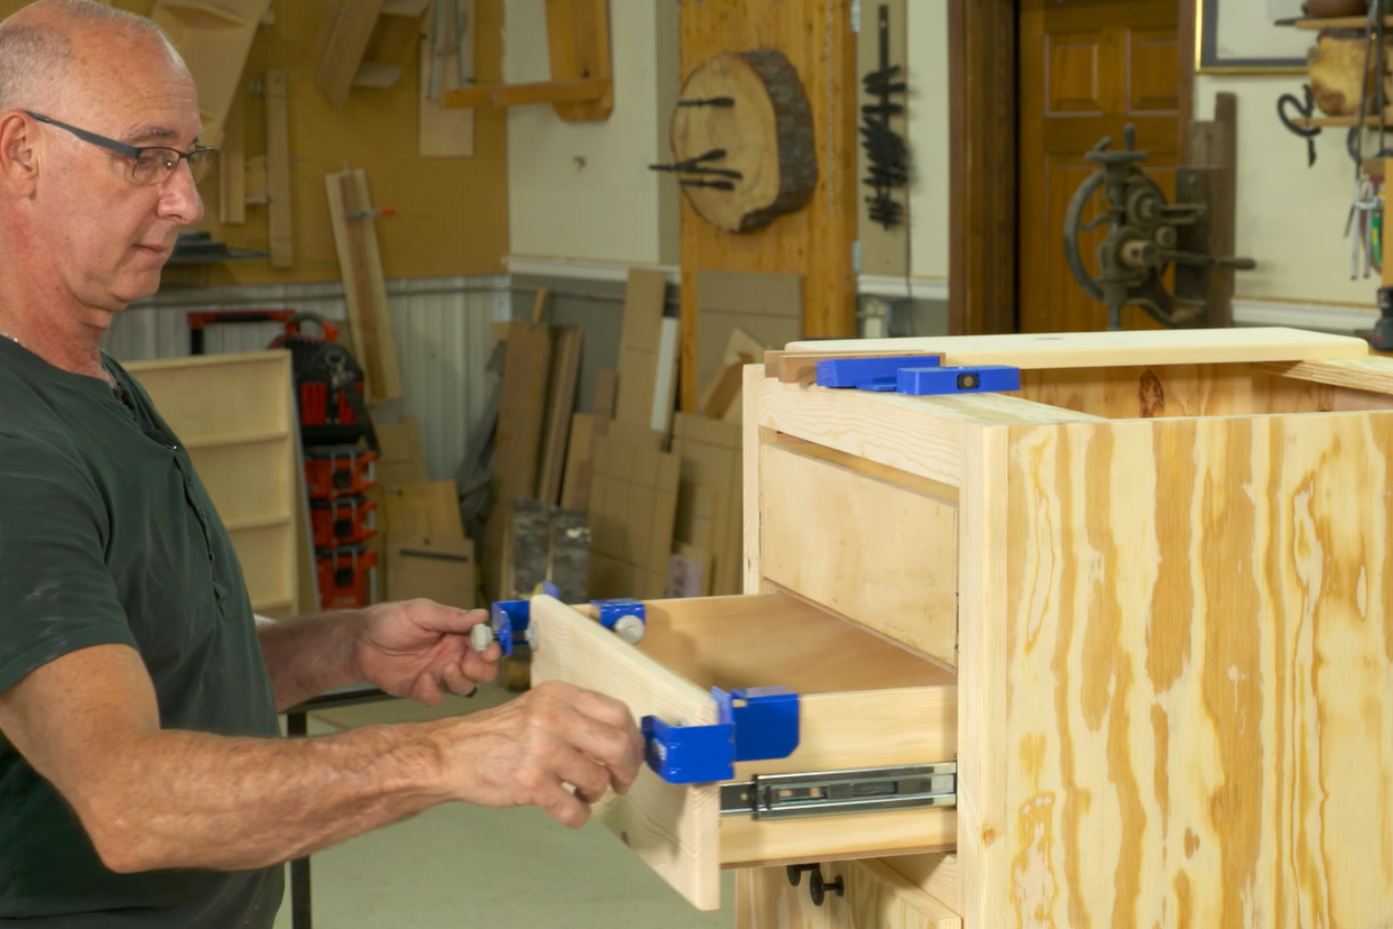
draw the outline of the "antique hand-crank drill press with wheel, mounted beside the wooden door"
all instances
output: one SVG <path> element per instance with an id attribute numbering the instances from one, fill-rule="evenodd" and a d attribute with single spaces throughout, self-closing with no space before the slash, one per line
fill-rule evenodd
<path id="1" fill-rule="evenodd" d="M 1107 327 L 1121 329 L 1123 306 L 1141 306 L 1153 319 L 1173 329 L 1206 325 L 1202 298 L 1177 297 L 1166 288 L 1165 274 L 1172 266 L 1251 269 L 1251 258 L 1212 256 L 1181 251 L 1187 227 L 1201 221 L 1209 208 L 1204 203 L 1167 203 L 1166 195 L 1138 167 L 1146 160 L 1137 150 L 1135 130 L 1126 130 L 1127 148 L 1112 152 L 1110 138 L 1103 138 L 1084 157 L 1100 167 L 1088 175 L 1064 212 L 1064 256 L 1074 280 L 1089 297 L 1107 306 Z M 1094 195 L 1103 192 L 1103 209 L 1091 219 L 1084 212 Z M 1094 277 L 1084 265 L 1081 237 L 1107 224 L 1107 235 L 1098 247 L 1099 273 Z"/>

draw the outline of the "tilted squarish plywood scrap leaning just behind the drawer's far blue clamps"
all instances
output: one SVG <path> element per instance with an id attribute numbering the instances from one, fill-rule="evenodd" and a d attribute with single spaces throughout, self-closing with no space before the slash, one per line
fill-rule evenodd
<path id="1" fill-rule="evenodd" d="M 598 439 L 591 486 L 591 595 L 660 598 L 677 513 L 677 455 Z"/>

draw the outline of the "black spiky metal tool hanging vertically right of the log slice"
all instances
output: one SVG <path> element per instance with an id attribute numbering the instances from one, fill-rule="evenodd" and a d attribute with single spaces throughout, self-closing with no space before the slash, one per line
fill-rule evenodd
<path id="1" fill-rule="evenodd" d="M 904 136 L 890 128 L 890 117 L 904 113 L 904 104 L 892 97 L 903 96 L 908 85 L 903 68 L 890 64 L 890 7 L 880 4 L 876 22 L 880 57 L 876 70 L 861 79 L 866 95 L 876 97 L 875 103 L 861 107 L 861 145 L 871 163 L 871 177 L 861 182 L 875 191 L 866 198 L 871 220 L 894 228 L 904 221 L 904 205 L 892 194 L 910 184 L 910 150 Z"/>

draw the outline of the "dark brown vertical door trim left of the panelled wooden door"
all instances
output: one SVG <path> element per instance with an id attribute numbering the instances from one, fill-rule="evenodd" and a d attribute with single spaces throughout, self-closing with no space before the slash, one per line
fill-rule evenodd
<path id="1" fill-rule="evenodd" d="M 949 0 L 949 331 L 1015 331 L 1015 4 Z"/>

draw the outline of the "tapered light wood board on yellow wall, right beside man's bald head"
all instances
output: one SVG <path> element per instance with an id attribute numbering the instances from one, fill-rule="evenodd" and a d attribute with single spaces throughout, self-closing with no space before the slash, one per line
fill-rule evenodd
<path id="1" fill-rule="evenodd" d="M 164 29 L 198 88 L 202 142 L 223 145 L 223 132 L 247 53 L 270 0 L 155 0 L 150 18 Z"/>

